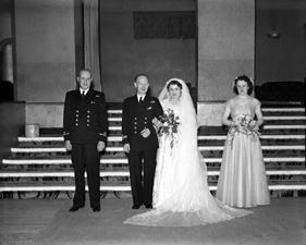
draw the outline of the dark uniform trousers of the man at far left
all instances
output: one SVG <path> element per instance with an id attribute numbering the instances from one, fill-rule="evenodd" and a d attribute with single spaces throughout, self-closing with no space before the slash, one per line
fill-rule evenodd
<path id="1" fill-rule="evenodd" d="M 100 155 L 97 144 L 73 144 L 71 152 L 75 179 L 73 206 L 85 206 L 85 169 L 89 188 L 90 208 L 100 207 Z"/>

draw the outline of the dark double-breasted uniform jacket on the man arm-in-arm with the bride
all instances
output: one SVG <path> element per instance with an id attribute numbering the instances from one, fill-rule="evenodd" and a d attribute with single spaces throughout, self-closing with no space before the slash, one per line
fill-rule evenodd
<path id="1" fill-rule="evenodd" d="M 130 144 L 131 151 L 143 151 L 158 148 L 158 139 L 152 125 L 155 118 L 162 117 L 163 110 L 159 100 L 149 95 L 138 102 L 137 95 L 126 98 L 123 102 L 122 140 Z M 140 132 L 150 130 L 150 135 L 144 138 Z"/>

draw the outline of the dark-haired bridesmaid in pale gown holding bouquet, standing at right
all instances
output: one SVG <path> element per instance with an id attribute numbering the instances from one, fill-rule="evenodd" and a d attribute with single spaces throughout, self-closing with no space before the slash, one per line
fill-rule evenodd
<path id="1" fill-rule="evenodd" d="M 269 205 L 270 194 L 258 132 L 264 123 L 260 102 L 250 97 L 254 87 L 250 77 L 238 76 L 233 85 L 237 96 L 227 101 L 222 118 L 229 133 L 216 195 L 232 207 Z M 254 120 L 255 115 L 257 121 Z"/>

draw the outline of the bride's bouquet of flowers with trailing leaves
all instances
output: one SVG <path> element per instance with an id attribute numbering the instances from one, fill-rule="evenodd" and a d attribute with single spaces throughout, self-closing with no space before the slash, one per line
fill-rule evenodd
<path id="1" fill-rule="evenodd" d="M 159 128 L 159 136 L 163 134 L 171 139 L 170 147 L 172 148 L 174 143 L 179 140 L 179 131 L 178 127 L 180 125 L 180 117 L 174 114 L 174 111 L 171 109 L 167 109 L 163 115 L 160 118 L 162 123 L 161 127 Z"/>

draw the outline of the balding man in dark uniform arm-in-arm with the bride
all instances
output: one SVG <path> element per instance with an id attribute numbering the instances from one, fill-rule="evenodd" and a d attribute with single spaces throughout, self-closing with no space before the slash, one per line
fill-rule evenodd
<path id="1" fill-rule="evenodd" d="M 152 208 L 152 186 L 156 169 L 158 139 L 152 120 L 163 114 L 159 100 L 147 95 L 148 76 L 135 76 L 136 95 L 126 98 L 123 103 L 122 137 L 123 149 L 127 154 L 133 195 L 133 209 L 143 204 Z M 142 183 L 142 163 L 144 160 L 144 185 Z"/>

